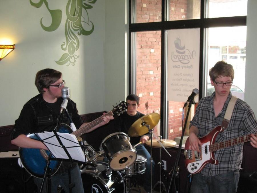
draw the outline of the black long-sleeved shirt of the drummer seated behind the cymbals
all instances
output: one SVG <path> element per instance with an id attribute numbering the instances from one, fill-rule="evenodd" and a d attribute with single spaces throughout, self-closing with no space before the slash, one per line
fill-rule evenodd
<path id="1" fill-rule="evenodd" d="M 130 116 L 127 113 L 121 114 L 121 116 L 115 118 L 113 121 L 110 122 L 110 131 L 111 132 L 123 132 L 125 134 L 128 134 L 128 130 L 130 126 L 138 120 L 140 117 L 144 116 L 144 114 L 140 112 L 136 112 L 136 115 Z M 145 135 L 148 135 L 150 137 L 150 133 L 147 133 Z M 139 137 L 130 137 L 130 143 L 133 145 L 137 144 L 140 141 Z"/>

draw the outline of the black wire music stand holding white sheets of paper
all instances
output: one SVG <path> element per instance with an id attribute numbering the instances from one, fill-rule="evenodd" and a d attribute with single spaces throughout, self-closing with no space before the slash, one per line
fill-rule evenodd
<path id="1" fill-rule="evenodd" d="M 51 193 L 51 168 L 49 165 L 51 160 L 56 161 L 69 161 L 69 162 L 86 162 L 85 154 L 82 151 L 82 147 L 79 144 L 75 135 L 68 133 L 58 133 L 55 130 L 53 132 L 35 133 L 42 143 L 47 146 L 51 153 L 48 157 L 47 167 L 45 168 L 45 174 L 42 180 L 40 192 L 43 190 L 45 178 L 47 176 L 49 186 L 48 192 Z M 53 155 L 54 158 L 51 156 Z M 71 183 L 70 166 L 68 166 L 69 174 L 69 190 L 72 192 L 72 188 L 75 184 Z"/>

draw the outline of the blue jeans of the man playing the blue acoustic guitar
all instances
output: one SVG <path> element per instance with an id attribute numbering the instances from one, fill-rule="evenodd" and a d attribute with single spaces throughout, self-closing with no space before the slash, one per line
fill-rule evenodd
<path id="1" fill-rule="evenodd" d="M 40 191 L 42 180 L 43 179 L 41 178 L 34 178 L 34 182 L 37 185 L 38 191 Z M 74 169 L 71 170 L 71 183 L 75 183 L 75 186 L 72 188 L 72 192 L 84 193 L 83 183 L 81 179 L 81 172 L 79 170 L 78 164 Z M 42 190 L 43 193 L 48 192 L 48 188 L 46 184 L 47 184 L 47 179 L 45 179 L 44 187 Z M 57 193 L 57 188 L 59 185 L 61 185 L 61 187 L 65 190 L 65 192 L 69 193 L 68 172 L 51 176 L 51 184 L 52 184 L 52 188 L 51 188 L 52 193 Z"/>

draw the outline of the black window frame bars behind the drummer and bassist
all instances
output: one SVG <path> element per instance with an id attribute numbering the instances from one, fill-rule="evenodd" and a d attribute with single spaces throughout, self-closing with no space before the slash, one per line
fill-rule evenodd
<path id="1" fill-rule="evenodd" d="M 136 71 L 135 71 L 135 50 L 134 50 L 134 32 L 138 31 L 161 31 L 161 101 L 160 101 L 160 121 L 162 128 L 162 138 L 166 139 L 168 133 L 168 101 L 166 97 L 166 30 L 170 29 L 188 29 L 200 28 L 200 60 L 199 60 L 199 100 L 204 96 L 205 92 L 205 64 L 206 64 L 206 29 L 210 27 L 234 27 L 246 26 L 247 16 L 234 16 L 234 17 L 217 17 L 206 18 L 207 0 L 201 0 L 200 5 L 200 19 L 188 19 L 167 21 L 168 13 L 168 0 L 162 0 L 162 20 L 160 22 L 150 23 L 133 23 L 134 22 L 134 5 L 136 0 L 129 0 L 129 94 L 136 93 Z"/>

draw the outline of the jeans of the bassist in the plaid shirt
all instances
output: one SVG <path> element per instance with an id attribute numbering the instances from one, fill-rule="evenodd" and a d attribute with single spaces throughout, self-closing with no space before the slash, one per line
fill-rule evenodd
<path id="1" fill-rule="evenodd" d="M 191 193 L 236 193 L 239 170 L 217 176 L 194 174 Z"/>

